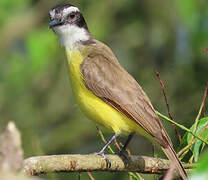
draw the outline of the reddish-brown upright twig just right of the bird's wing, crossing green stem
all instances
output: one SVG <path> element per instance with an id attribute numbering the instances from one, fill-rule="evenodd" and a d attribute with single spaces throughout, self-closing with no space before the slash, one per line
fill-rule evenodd
<path id="1" fill-rule="evenodd" d="M 172 115 L 171 115 L 171 113 L 170 113 L 170 106 L 169 106 L 169 104 L 168 104 L 168 99 L 167 99 L 167 96 L 166 96 L 166 93 L 165 93 L 165 85 L 164 85 L 163 81 L 162 81 L 161 78 L 160 78 L 159 72 L 158 72 L 157 70 L 155 70 L 155 73 L 156 73 L 156 76 L 158 77 L 158 79 L 159 79 L 159 81 L 160 81 L 160 85 L 161 85 L 161 87 L 162 87 L 162 92 L 163 92 L 163 96 L 164 96 L 164 98 L 165 98 L 165 103 L 166 103 L 166 106 L 167 106 L 168 115 L 169 115 L 170 119 L 173 120 L 173 117 L 172 117 Z M 172 126 L 173 126 L 173 129 L 175 130 L 176 136 L 178 137 L 178 141 L 179 141 L 179 143 L 180 143 L 180 142 L 181 142 L 181 135 L 180 135 L 180 133 L 178 132 L 176 125 L 175 125 L 175 124 L 172 124 Z"/>

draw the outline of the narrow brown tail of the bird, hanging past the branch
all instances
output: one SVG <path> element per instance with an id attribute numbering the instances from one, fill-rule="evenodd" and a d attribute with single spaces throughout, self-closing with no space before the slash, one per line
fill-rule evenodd
<path id="1" fill-rule="evenodd" d="M 168 159 L 170 159 L 172 162 L 174 162 L 178 168 L 178 171 L 180 173 L 180 176 L 183 180 L 187 179 L 187 174 L 185 169 L 183 168 L 180 160 L 178 159 L 174 149 L 171 147 L 171 145 L 168 145 L 166 148 L 162 147 L 162 150 L 164 151 L 164 153 L 166 154 L 166 156 L 168 157 Z"/>

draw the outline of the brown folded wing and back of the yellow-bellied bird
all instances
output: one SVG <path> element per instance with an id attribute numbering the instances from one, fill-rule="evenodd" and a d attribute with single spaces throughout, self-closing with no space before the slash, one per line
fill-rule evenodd
<path id="1" fill-rule="evenodd" d="M 166 145 L 163 126 L 137 81 L 118 63 L 112 51 L 96 42 L 81 64 L 86 87 Z M 96 53 L 95 53 L 96 52 Z M 166 134 L 166 133 L 165 133 Z M 166 136 L 166 135 L 165 135 Z"/>

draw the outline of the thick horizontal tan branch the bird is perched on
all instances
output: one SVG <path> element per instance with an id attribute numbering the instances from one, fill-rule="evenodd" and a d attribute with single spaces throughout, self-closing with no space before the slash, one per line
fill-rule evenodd
<path id="1" fill-rule="evenodd" d="M 163 174 L 169 168 L 169 161 L 146 156 L 129 156 L 128 163 L 118 155 L 107 155 L 111 167 L 99 155 L 51 155 L 36 156 L 24 160 L 23 172 L 27 175 L 39 175 L 52 172 L 117 171 L 139 172 L 146 174 Z M 187 171 L 194 164 L 184 164 Z"/>

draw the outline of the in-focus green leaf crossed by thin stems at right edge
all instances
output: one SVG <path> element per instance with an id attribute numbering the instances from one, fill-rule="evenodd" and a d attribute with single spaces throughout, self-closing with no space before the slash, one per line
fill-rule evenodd
<path id="1" fill-rule="evenodd" d="M 202 118 L 196 128 L 196 134 L 199 135 L 200 132 L 208 125 L 208 117 L 206 118 Z M 192 131 L 194 129 L 194 125 L 192 125 L 192 127 L 190 128 Z M 205 140 L 208 140 L 208 128 L 202 133 L 201 137 Z M 193 139 L 193 136 L 189 133 L 187 135 L 187 142 L 188 144 L 191 143 Z M 198 157 L 199 157 L 199 153 L 202 151 L 203 147 L 202 146 L 203 143 L 200 140 L 197 140 L 190 148 L 190 150 L 192 151 L 193 155 L 194 155 L 194 161 L 197 162 L 198 161 Z"/>

